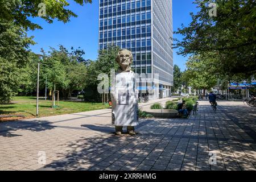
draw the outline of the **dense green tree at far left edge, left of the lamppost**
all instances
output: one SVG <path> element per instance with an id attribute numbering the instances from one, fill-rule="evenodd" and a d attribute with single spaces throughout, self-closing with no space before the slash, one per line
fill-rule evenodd
<path id="1" fill-rule="evenodd" d="M 29 59 L 29 44 L 34 44 L 27 37 L 23 28 L 14 23 L 0 22 L 0 102 L 8 103 L 26 82 L 28 77 L 24 65 Z"/>

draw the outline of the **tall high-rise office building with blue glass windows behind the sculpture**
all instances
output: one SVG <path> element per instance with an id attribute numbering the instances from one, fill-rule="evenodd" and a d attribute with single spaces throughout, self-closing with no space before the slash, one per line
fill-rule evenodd
<path id="1" fill-rule="evenodd" d="M 172 0 L 100 0 L 99 49 L 133 53 L 136 73 L 159 75 L 159 96 L 173 86 Z"/>

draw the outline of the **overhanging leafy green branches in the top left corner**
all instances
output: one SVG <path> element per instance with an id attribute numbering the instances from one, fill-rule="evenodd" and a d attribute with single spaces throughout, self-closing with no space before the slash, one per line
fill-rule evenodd
<path id="1" fill-rule="evenodd" d="M 91 0 L 74 1 L 80 5 L 92 3 Z M 46 14 L 40 16 L 40 18 L 43 18 L 48 23 L 52 23 L 53 19 L 67 23 L 71 17 L 77 17 L 73 11 L 67 8 L 69 3 L 65 0 L 2 0 L 0 1 L 1 22 L 15 22 L 25 30 L 42 28 L 39 24 L 33 23 L 31 18 L 28 19 L 28 17 L 35 18 L 39 16 L 39 11 L 42 9 L 42 7 L 39 7 L 40 3 L 46 5 Z"/>

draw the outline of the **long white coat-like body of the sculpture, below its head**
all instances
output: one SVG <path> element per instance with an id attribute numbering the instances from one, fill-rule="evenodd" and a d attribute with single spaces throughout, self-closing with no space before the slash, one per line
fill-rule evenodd
<path id="1" fill-rule="evenodd" d="M 135 73 L 133 71 L 117 73 L 115 87 L 112 89 L 112 124 L 138 126 L 138 91 Z"/>

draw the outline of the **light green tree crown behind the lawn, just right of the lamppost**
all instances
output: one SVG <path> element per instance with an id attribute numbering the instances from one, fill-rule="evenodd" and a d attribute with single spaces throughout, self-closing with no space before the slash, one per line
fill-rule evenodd
<path id="1" fill-rule="evenodd" d="M 78 52 L 82 53 L 77 55 Z M 82 90 L 86 83 L 86 65 L 82 60 L 84 51 L 72 48 L 68 52 L 67 48 L 59 46 L 59 50 L 51 48 L 49 55 L 43 52 L 42 60 L 42 76 L 40 82 L 44 88 L 47 78 L 47 87 L 51 90 L 56 88 L 60 90 L 61 97 L 67 99 L 71 97 L 71 93 L 75 90 Z"/>

